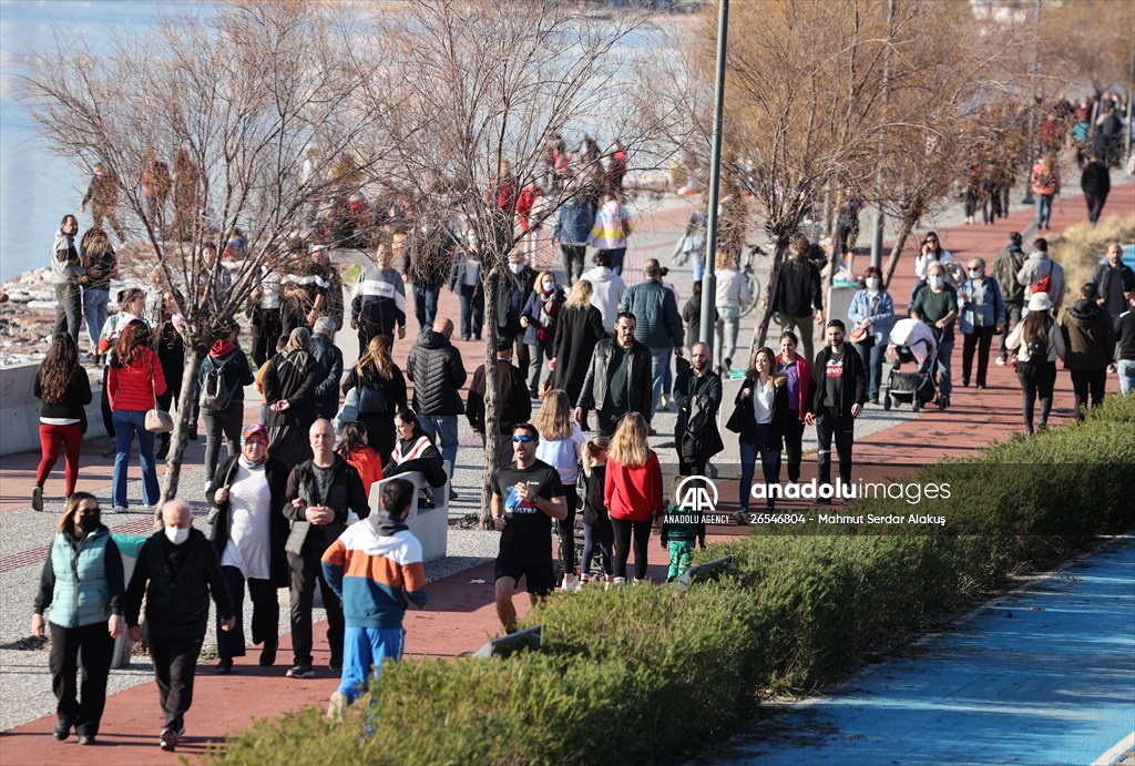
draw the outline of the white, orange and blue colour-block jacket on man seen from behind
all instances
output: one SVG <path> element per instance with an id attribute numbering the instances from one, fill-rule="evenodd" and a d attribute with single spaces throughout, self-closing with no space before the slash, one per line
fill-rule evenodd
<path id="1" fill-rule="evenodd" d="M 352 524 L 323 553 L 322 565 L 350 628 L 402 628 L 406 598 L 426 605 L 422 546 L 409 530 L 386 537 L 369 522 Z"/>

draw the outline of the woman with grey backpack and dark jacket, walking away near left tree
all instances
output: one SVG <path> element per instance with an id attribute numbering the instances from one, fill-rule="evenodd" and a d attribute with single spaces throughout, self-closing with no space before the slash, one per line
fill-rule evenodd
<path id="1" fill-rule="evenodd" d="M 201 363 L 197 373 L 201 415 L 205 423 L 205 491 L 213 474 L 217 473 L 221 437 L 228 447 L 228 456 L 235 457 L 241 427 L 244 426 L 244 387 L 251 386 L 253 378 L 249 357 L 236 345 L 238 331 L 236 322 L 230 322 L 221 330 L 221 337 L 217 338 L 209 350 L 209 355 Z M 222 390 L 219 392 L 219 397 L 205 390 L 205 378 L 212 372 L 219 372 L 221 377 Z"/>

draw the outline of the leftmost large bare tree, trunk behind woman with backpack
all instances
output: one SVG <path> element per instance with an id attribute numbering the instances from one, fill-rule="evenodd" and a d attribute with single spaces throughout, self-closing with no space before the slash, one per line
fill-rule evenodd
<path id="1" fill-rule="evenodd" d="M 160 269 L 183 320 L 185 385 L 162 502 L 178 490 L 202 359 L 259 284 L 264 253 L 304 236 L 310 208 L 343 191 L 346 182 L 328 171 L 362 153 L 362 136 L 371 161 L 380 154 L 376 113 L 353 109 L 352 99 L 364 85 L 380 92 L 381 73 L 342 61 L 356 36 L 334 7 L 234 1 L 209 16 L 183 10 L 149 37 L 116 35 L 98 48 L 59 34 L 54 50 L 28 64 L 24 92 L 41 132 L 78 167 L 102 162 L 118 179 L 129 209 L 124 266 L 143 284 Z M 311 146 L 319 158 L 303 174 Z M 174 157 L 179 177 L 163 180 Z M 165 196 L 177 184 L 170 211 Z M 207 267 L 201 246 L 237 225 L 249 255 L 230 275 L 220 259 Z"/>

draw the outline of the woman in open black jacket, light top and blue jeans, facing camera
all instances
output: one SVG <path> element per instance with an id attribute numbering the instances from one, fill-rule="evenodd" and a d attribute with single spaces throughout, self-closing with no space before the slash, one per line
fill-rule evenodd
<path id="1" fill-rule="evenodd" d="M 792 418 L 789 410 L 787 376 L 774 376 L 776 355 L 772 348 L 758 348 L 753 367 L 745 373 L 745 382 L 737 393 L 737 409 L 725 428 L 738 435 L 741 449 L 741 508 L 734 521 L 746 523 L 749 496 L 757 458 L 765 479 L 765 510 L 773 510 L 773 486 L 779 482 L 776 462 L 780 460 L 781 440 Z"/>

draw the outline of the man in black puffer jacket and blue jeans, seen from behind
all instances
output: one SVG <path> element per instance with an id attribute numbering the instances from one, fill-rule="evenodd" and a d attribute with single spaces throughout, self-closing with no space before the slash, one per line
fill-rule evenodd
<path id="1" fill-rule="evenodd" d="M 453 320 L 438 317 L 406 359 L 406 377 L 414 384 L 418 422 L 434 444 L 440 441 L 442 457 L 449 461 L 451 479 L 457 462 L 457 415 L 465 411 L 461 387 L 466 377 L 461 352 L 449 342 L 452 337 Z M 449 499 L 455 498 L 451 489 Z"/>

